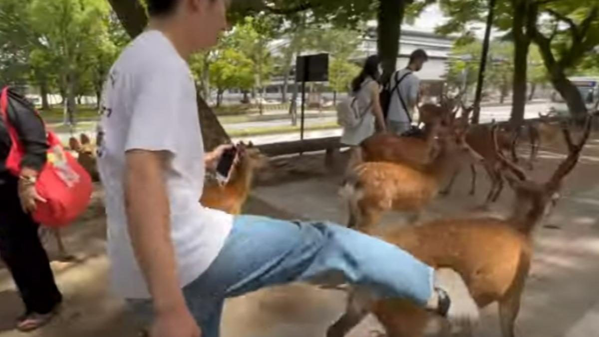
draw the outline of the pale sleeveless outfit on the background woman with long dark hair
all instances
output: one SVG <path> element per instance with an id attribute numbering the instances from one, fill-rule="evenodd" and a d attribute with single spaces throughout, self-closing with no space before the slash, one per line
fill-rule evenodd
<path id="1" fill-rule="evenodd" d="M 376 118 L 373 110 L 373 92 L 379 92 L 379 84 L 368 77 L 362 83 L 362 88 L 353 94 L 357 98 L 359 111 L 364 113 L 364 118 L 356 127 L 343 129 L 341 144 L 358 146 L 376 131 L 374 128 Z"/>

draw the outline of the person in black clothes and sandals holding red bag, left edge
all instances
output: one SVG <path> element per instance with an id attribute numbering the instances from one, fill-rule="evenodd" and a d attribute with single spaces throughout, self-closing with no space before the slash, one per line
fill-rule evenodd
<path id="1" fill-rule="evenodd" d="M 62 302 L 38 236 L 40 225 L 31 216 L 38 204 L 46 201 L 35 184 L 46 164 L 49 146 L 44 122 L 34 107 L 12 89 L 5 91 L 5 96 L 10 125 L 0 118 L 0 256 L 25 303 L 25 314 L 17 319 L 16 327 L 31 331 L 52 320 Z M 6 165 L 13 149 L 11 128 L 24 150 L 18 176 Z"/>

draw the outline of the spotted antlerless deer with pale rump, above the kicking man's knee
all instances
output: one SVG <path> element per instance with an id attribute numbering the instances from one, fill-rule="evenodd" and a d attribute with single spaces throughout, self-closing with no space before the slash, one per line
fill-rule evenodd
<path id="1" fill-rule="evenodd" d="M 464 137 L 464 133 L 453 132 L 441 136 L 432 160 L 418 168 L 397 163 L 362 163 L 354 167 L 340 190 L 350 206 L 349 227 L 369 228 L 389 210 L 413 213 L 412 221 L 416 221 L 456 163 L 465 158 L 482 160 Z"/>

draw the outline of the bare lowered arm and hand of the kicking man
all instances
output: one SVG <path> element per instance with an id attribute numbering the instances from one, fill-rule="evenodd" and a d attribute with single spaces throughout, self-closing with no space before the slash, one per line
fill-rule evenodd
<path id="1" fill-rule="evenodd" d="M 156 312 L 153 336 L 199 336 L 177 275 L 170 231 L 170 208 L 164 182 L 167 152 L 126 153 L 125 200 L 135 257 L 152 294 Z"/>

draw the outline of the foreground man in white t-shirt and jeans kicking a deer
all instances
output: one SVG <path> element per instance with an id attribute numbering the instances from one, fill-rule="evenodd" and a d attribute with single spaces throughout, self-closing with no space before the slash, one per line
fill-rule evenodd
<path id="1" fill-rule="evenodd" d="M 152 314 L 152 337 L 216 337 L 227 297 L 331 274 L 450 319 L 477 318 L 455 272 L 435 271 L 388 243 L 334 224 L 202 207 L 205 170 L 227 146 L 204 153 L 185 60 L 217 43 L 225 0 L 146 3 L 149 29 L 105 84 L 98 152 L 111 283 L 136 312 Z"/>

